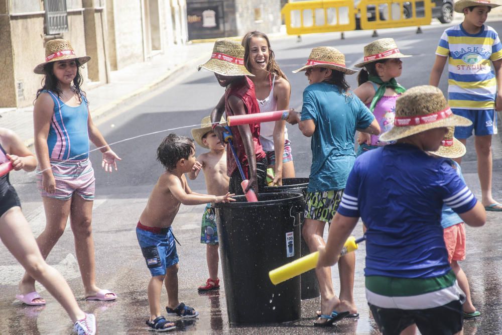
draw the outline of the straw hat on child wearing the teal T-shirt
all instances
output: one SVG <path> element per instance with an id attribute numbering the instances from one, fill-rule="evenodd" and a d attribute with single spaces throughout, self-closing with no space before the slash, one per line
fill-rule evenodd
<path id="1" fill-rule="evenodd" d="M 332 47 L 316 47 L 310 52 L 307 64 L 294 70 L 293 73 L 305 71 L 310 67 L 325 67 L 328 69 L 343 72 L 345 74 L 354 74 L 357 71 L 345 67 L 345 56 Z"/>

